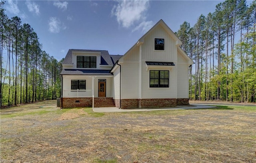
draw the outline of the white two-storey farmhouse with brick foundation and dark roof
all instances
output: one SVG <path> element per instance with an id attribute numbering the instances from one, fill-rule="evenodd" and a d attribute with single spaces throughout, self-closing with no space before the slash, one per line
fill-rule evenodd
<path id="1" fill-rule="evenodd" d="M 61 107 L 147 108 L 188 105 L 194 62 L 160 20 L 123 56 L 70 49 L 62 63 Z"/>

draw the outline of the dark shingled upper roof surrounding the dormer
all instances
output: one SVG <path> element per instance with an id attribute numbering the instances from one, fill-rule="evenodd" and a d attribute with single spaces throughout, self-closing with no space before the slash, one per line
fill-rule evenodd
<path id="1" fill-rule="evenodd" d="M 117 58 L 117 57 L 114 57 L 114 55 L 113 55 L 114 59 L 112 57 L 110 57 L 110 55 L 109 55 L 107 50 L 79 50 L 79 49 L 70 49 L 70 50 L 68 50 L 68 53 L 67 53 L 64 61 L 62 62 L 62 64 L 72 65 L 72 52 L 100 52 L 100 56 L 101 56 L 100 62 L 101 62 L 101 65 L 113 66 L 115 64 L 115 62 L 113 63 L 113 60 L 116 60 L 116 58 Z M 120 58 L 121 57 L 122 56 L 120 56 Z"/>

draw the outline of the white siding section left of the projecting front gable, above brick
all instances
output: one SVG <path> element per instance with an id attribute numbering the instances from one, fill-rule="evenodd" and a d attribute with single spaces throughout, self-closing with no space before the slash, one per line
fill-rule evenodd
<path id="1" fill-rule="evenodd" d="M 138 99 L 138 64 L 122 64 L 122 99 Z"/>

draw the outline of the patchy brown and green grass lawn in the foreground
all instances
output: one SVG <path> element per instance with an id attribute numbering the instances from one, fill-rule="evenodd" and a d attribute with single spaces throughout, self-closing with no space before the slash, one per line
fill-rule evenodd
<path id="1" fill-rule="evenodd" d="M 0 113 L 0 162 L 256 162 L 255 107 L 94 113 L 44 101 Z"/>

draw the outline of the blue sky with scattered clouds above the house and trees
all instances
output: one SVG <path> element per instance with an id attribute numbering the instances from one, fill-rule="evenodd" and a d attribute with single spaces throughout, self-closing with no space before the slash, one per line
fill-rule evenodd
<path id="1" fill-rule="evenodd" d="M 37 33 L 50 56 L 61 60 L 68 49 L 108 50 L 123 55 L 160 19 L 177 32 L 187 21 L 214 12 L 222 1 L 11 1 L 4 9 Z"/>

